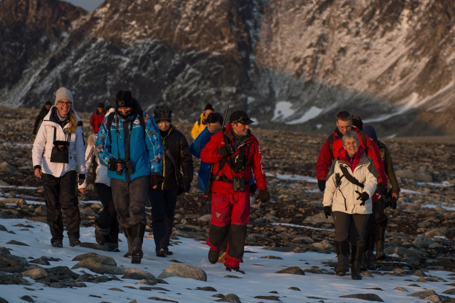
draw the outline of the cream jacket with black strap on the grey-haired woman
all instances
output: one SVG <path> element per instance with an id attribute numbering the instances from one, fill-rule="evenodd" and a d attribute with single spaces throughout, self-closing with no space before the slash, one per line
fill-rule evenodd
<path id="1" fill-rule="evenodd" d="M 342 211 L 346 213 L 372 213 L 372 200 L 371 197 L 376 191 L 378 185 L 378 174 L 376 172 L 373 159 L 367 157 L 365 152 L 361 153 L 359 163 L 354 167 L 352 172 L 349 164 L 338 157 L 329 170 L 326 182 L 326 189 L 324 192 L 324 206 L 332 206 L 332 211 Z M 345 177 L 341 178 L 341 185 L 336 186 L 336 174 L 343 176 L 340 166 L 346 166 L 349 174 L 355 177 L 360 183 L 363 184 L 363 189 L 351 183 Z M 365 204 L 360 206 L 361 200 L 357 200 L 358 194 L 355 192 L 367 192 L 370 199 L 365 201 Z M 345 206 L 346 200 L 346 206 Z"/>

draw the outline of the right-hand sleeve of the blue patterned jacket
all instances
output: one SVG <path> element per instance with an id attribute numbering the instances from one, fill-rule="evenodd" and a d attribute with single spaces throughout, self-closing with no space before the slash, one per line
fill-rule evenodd
<path id="1" fill-rule="evenodd" d="M 163 175 L 163 146 L 161 145 L 161 135 L 155 120 L 144 112 L 144 122 L 146 126 L 146 145 L 149 152 L 150 169 L 152 173 Z"/>

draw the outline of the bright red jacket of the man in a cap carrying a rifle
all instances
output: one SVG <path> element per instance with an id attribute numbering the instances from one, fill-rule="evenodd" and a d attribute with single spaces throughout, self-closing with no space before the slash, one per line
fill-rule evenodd
<path id="1" fill-rule="evenodd" d="M 218 171 L 219 163 L 223 159 L 223 157 L 216 152 L 218 148 L 225 145 L 224 134 L 229 139 L 229 143 L 231 146 L 234 146 L 234 137 L 231 130 L 231 124 L 226 125 L 225 132 L 218 132 L 214 134 L 210 141 L 205 145 L 205 147 L 201 151 L 201 161 L 206 163 L 214 163 L 213 165 L 213 174 Z M 254 180 L 256 181 L 257 188 L 267 189 L 267 182 L 265 180 L 265 168 L 262 164 L 262 156 L 261 156 L 261 149 L 259 146 L 259 142 L 257 141 L 256 137 L 253 135 L 249 135 L 249 139 L 241 144 L 239 148 L 234 152 L 231 158 L 235 159 L 240 152 L 245 152 L 247 154 L 247 163 L 245 168 L 236 174 L 236 172 L 230 167 L 230 164 L 226 162 L 221 170 L 218 172 L 217 176 L 223 176 L 229 180 L 232 180 L 233 177 L 244 177 L 245 183 L 248 183 L 251 179 L 252 172 L 254 174 Z M 244 147 L 245 146 L 245 147 Z M 244 148 L 242 148 L 244 147 Z M 234 148 L 233 148 L 234 150 Z M 249 191 L 249 185 L 245 184 L 245 190 Z M 220 193 L 220 194 L 231 194 L 234 192 L 234 188 L 232 183 L 214 180 L 212 186 L 212 192 Z"/>

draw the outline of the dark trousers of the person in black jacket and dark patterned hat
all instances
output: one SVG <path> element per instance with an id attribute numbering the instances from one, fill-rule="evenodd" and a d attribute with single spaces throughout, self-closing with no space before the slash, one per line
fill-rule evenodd
<path id="1" fill-rule="evenodd" d="M 164 248 L 167 251 L 174 224 L 177 190 L 158 190 L 149 187 L 149 199 L 152 204 L 152 231 L 155 249 Z"/>

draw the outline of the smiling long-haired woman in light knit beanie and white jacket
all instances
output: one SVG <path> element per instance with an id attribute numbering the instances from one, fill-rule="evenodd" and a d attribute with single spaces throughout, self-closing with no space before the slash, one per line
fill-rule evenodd
<path id="1" fill-rule="evenodd" d="M 85 194 L 85 140 L 82 121 L 72 109 L 73 95 L 60 88 L 55 105 L 44 117 L 32 149 L 34 174 L 40 178 L 46 199 L 47 223 L 51 230 L 51 244 L 63 247 L 62 209 L 70 246 L 79 246 L 80 213 L 76 196 L 78 187 Z M 77 167 L 76 167 L 77 163 Z"/>

